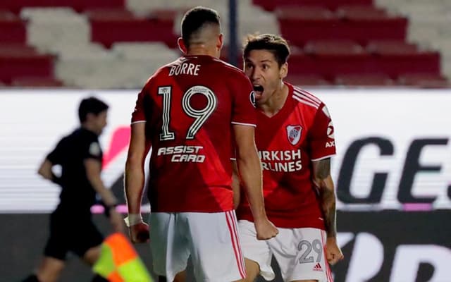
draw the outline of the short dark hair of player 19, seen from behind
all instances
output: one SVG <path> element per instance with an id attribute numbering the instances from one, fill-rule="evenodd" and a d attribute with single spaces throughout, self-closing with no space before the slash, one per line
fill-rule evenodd
<path id="1" fill-rule="evenodd" d="M 190 46 L 192 35 L 208 24 L 221 27 L 218 12 L 211 8 L 197 6 L 185 13 L 182 19 L 182 39 L 186 47 Z"/>

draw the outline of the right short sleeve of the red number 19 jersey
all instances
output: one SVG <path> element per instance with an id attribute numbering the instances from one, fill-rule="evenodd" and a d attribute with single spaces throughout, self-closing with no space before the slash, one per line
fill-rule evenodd
<path id="1" fill-rule="evenodd" d="M 255 95 L 249 79 L 243 74 L 235 80 L 233 88 L 232 123 L 256 126 Z"/>

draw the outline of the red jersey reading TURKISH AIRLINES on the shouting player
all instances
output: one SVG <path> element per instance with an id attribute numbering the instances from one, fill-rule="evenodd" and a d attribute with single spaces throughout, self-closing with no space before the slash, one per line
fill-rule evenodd
<path id="1" fill-rule="evenodd" d="M 326 105 L 309 92 L 285 83 L 283 108 L 269 118 L 257 111 L 255 141 L 263 168 L 266 214 L 280 228 L 324 229 L 311 161 L 335 154 L 333 124 Z M 242 195 L 238 219 L 253 221 Z"/>

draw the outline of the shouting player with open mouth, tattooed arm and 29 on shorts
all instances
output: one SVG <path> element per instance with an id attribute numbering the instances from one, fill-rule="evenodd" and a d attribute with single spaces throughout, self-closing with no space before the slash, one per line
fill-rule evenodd
<path id="1" fill-rule="evenodd" d="M 328 264 L 343 258 L 336 241 L 335 192 L 330 157 L 333 124 L 320 99 L 284 82 L 290 49 L 277 35 L 248 38 L 245 73 L 255 90 L 255 140 L 263 168 L 266 213 L 276 238 L 259 241 L 245 197 L 237 216 L 247 279 L 274 278 L 271 257 L 284 281 L 330 282 Z"/>

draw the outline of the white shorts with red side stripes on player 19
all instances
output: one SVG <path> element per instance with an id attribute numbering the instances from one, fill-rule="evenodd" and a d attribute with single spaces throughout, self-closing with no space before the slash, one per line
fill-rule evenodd
<path id="1" fill-rule="evenodd" d="M 191 257 L 196 281 L 245 278 L 235 211 L 154 212 L 149 216 L 154 272 L 173 281 Z"/>

